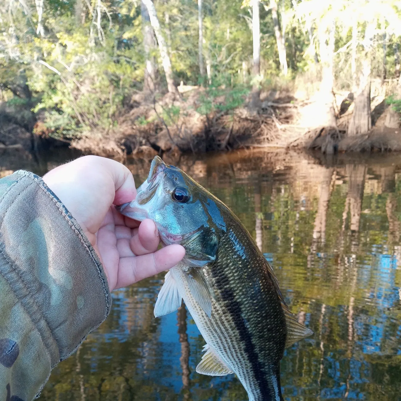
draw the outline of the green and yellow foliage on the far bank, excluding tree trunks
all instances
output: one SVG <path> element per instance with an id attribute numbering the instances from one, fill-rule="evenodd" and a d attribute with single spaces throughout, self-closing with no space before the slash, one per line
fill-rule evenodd
<path id="1" fill-rule="evenodd" d="M 194 1 L 154 1 L 176 83 L 207 86 L 198 112 L 227 112 L 242 105 L 247 85 L 291 91 L 303 86 L 312 93 L 320 81 L 328 28 L 335 22 L 334 77 L 337 89 L 350 89 L 352 25 L 357 22 L 356 69 L 366 51 L 366 21 L 377 21 L 369 45 L 372 77 L 397 71 L 401 35 L 401 8 L 396 0 L 321 0 L 277 2 L 279 30 L 284 35 L 289 74 L 280 73 L 271 8 L 260 3 L 260 75 L 253 77 L 251 3 L 243 0 L 203 2 L 203 61 L 198 65 L 198 5 Z M 98 7 L 100 5 L 100 7 Z M 108 132 L 126 113 L 144 79 L 145 48 L 141 2 L 132 0 L 49 0 L 44 3 L 43 36 L 36 33 L 39 14 L 33 0 L 0 2 L 0 87 L 2 99 L 14 94 L 15 102 L 47 111 L 45 124 L 53 134 L 80 136 L 83 132 Z M 386 40 L 383 42 L 383 32 Z M 149 59 L 158 70 L 156 84 L 163 92 L 162 59 L 150 45 Z M 320 43 L 322 42 L 322 43 Z M 383 46 L 383 44 L 385 46 Z M 322 46 L 321 46 L 322 45 Z M 322 53 L 323 51 L 323 53 Z M 321 54 L 322 53 L 322 54 Z M 316 65 L 315 61 L 319 61 Z M 220 88 L 220 89 L 217 89 Z M 225 88 L 225 89 L 221 89 Z M 231 88 L 231 89 L 228 89 Z M 231 91 L 230 91 L 231 90 Z M 32 97 L 40 98 L 32 105 Z M 221 100 L 223 99 L 223 100 Z M 16 103 L 16 104 L 17 104 Z M 37 103 L 36 101 L 33 103 Z M 398 107 L 398 103 L 392 103 Z M 18 107 L 23 107 L 20 103 Z M 174 124 L 183 111 L 164 110 Z M 138 124 L 145 124 L 145 120 Z M 75 134 L 74 134 L 75 133 Z M 53 135 L 52 134 L 52 135 Z"/>

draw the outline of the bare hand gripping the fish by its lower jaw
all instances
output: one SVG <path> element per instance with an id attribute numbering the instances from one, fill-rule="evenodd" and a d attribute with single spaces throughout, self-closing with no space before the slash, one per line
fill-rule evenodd
<path id="1" fill-rule="evenodd" d="M 170 269 L 183 257 L 181 245 L 157 250 L 155 223 L 124 217 L 114 205 L 136 196 L 134 178 L 115 160 L 84 156 L 49 171 L 43 180 L 81 226 L 103 264 L 110 291 Z"/>

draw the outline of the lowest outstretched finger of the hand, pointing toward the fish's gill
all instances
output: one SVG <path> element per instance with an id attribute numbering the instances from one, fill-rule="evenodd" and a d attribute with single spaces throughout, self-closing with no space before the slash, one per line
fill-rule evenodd
<path id="1" fill-rule="evenodd" d="M 136 257 L 121 258 L 118 265 L 116 288 L 130 286 L 146 277 L 175 266 L 185 254 L 181 245 L 174 244 Z"/>

